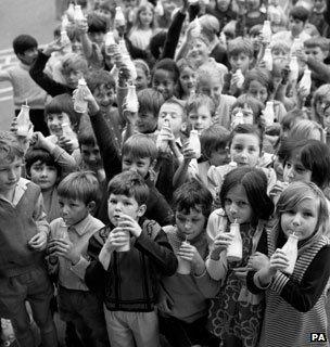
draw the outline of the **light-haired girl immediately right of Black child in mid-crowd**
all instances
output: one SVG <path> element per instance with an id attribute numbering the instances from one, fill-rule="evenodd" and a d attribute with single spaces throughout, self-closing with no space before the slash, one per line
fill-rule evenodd
<path id="1" fill-rule="evenodd" d="M 196 73 L 193 65 L 186 59 L 179 60 L 177 65 L 180 72 L 178 97 L 181 100 L 188 100 L 195 93 Z"/>

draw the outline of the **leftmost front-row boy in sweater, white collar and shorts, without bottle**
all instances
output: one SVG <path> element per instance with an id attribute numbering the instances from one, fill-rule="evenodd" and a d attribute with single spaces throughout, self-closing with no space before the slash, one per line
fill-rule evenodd
<path id="1" fill-rule="evenodd" d="M 43 265 L 49 224 L 40 188 L 21 178 L 23 151 L 0 132 L 0 317 L 10 319 L 21 346 L 34 347 L 28 301 L 45 347 L 56 347 L 50 311 L 52 284 Z"/>

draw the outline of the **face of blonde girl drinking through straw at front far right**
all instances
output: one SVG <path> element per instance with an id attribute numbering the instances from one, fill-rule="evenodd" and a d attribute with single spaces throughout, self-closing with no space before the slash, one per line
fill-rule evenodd
<path id="1" fill-rule="evenodd" d="M 281 229 L 287 237 L 294 232 L 300 241 L 310 237 L 318 223 L 319 198 L 306 197 L 281 214 Z"/>

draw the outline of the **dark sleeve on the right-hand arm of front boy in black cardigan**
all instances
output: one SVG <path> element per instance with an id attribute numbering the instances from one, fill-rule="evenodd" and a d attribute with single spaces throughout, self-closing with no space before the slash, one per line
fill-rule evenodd
<path id="1" fill-rule="evenodd" d="M 178 267 L 178 259 L 163 229 L 161 229 L 155 239 L 152 240 L 143 228 L 140 236 L 136 240 L 135 246 L 152 259 L 154 267 L 161 274 L 167 277 L 175 274 Z"/>

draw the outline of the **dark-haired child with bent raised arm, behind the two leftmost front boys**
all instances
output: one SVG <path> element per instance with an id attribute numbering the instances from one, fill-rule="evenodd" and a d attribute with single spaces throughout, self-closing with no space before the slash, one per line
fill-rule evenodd
<path id="1" fill-rule="evenodd" d="M 41 189 L 47 221 L 60 217 L 56 185 L 61 178 L 76 169 L 73 157 L 47 140 L 42 133 L 34 134 L 34 146 L 25 155 L 27 177 Z"/>

